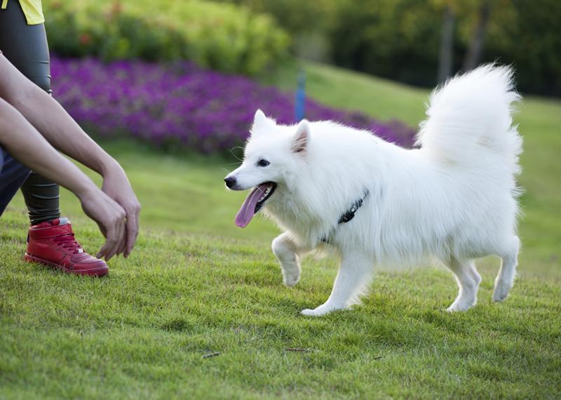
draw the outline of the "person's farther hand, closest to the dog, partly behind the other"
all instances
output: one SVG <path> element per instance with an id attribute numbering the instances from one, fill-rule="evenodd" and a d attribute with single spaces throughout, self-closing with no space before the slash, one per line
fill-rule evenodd
<path id="1" fill-rule="evenodd" d="M 124 253 L 125 258 L 127 258 L 133 251 L 138 236 L 140 203 L 130 186 L 130 182 L 128 182 L 125 171 L 116 162 L 104 173 L 102 190 L 116 201 L 126 213 L 126 240 L 123 241 L 116 254 Z"/>

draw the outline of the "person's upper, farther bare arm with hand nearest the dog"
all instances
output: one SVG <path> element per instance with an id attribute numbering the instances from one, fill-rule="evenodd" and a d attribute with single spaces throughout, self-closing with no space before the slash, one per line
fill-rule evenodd
<path id="1" fill-rule="evenodd" d="M 102 190 L 126 212 L 127 240 L 117 254 L 127 257 L 138 235 L 140 204 L 123 168 L 98 146 L 62 106 L 23 76 L 0 53 L 0 98 L 25 116 L 51 145 L 103 177 Z"/>

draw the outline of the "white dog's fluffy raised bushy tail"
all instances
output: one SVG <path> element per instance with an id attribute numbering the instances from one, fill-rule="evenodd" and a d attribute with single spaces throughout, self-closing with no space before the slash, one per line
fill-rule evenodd
<path id="1" fill-rule="evenodd" d="M 417 145 L 435 158 L 464 165 L 481 166 L 492 152 L 502 156 L 509 173 L 520 173 L 522 138 L 512 125 L 518 100 L 510 67 L 482 65 L 455 76 L 433 91 Z"/>

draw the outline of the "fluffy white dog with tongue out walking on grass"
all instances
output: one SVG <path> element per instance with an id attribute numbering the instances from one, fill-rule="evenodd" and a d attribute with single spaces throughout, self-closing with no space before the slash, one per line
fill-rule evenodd
<path id="1" fill-rule="evenodd" d="M 302 255 L 332 248 L 341 266 L 319 316 L 358 302 L 374 265 L 438 258 L 459 294 L 448 311 L 476 302 L 473 260 L 502 259 L 494 301 L 513 286 L 520 241 L 515 175 L 522 139 L 512 126 L 508 67 L 485 65 L 450 79 L 431 95 L 417 149 L 331 121 L 277 125 L 257 110 L 245 159 L 225 182 L 253 187 L 236 225 L 263 209 L 285 233 L 273 240 L 286 286 L 300 279 Z"/>

